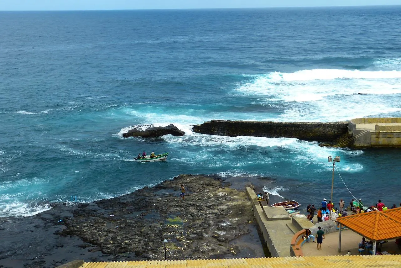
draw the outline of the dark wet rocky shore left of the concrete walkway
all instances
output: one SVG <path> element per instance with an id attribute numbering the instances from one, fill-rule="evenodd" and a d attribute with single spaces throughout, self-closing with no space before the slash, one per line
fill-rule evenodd
<path id="1" fill-rule="evenodd" d="M 162 260 L 164 239 L 169 260 L 263 257 L 243 190 L 249 183 L 180 175 L 113 199 L 54 203 L 30 217 L 0 218 L 0 267 L 54 267 L 77 259 Z M 180 184 L 187 191 L 184 200 Z"/>

